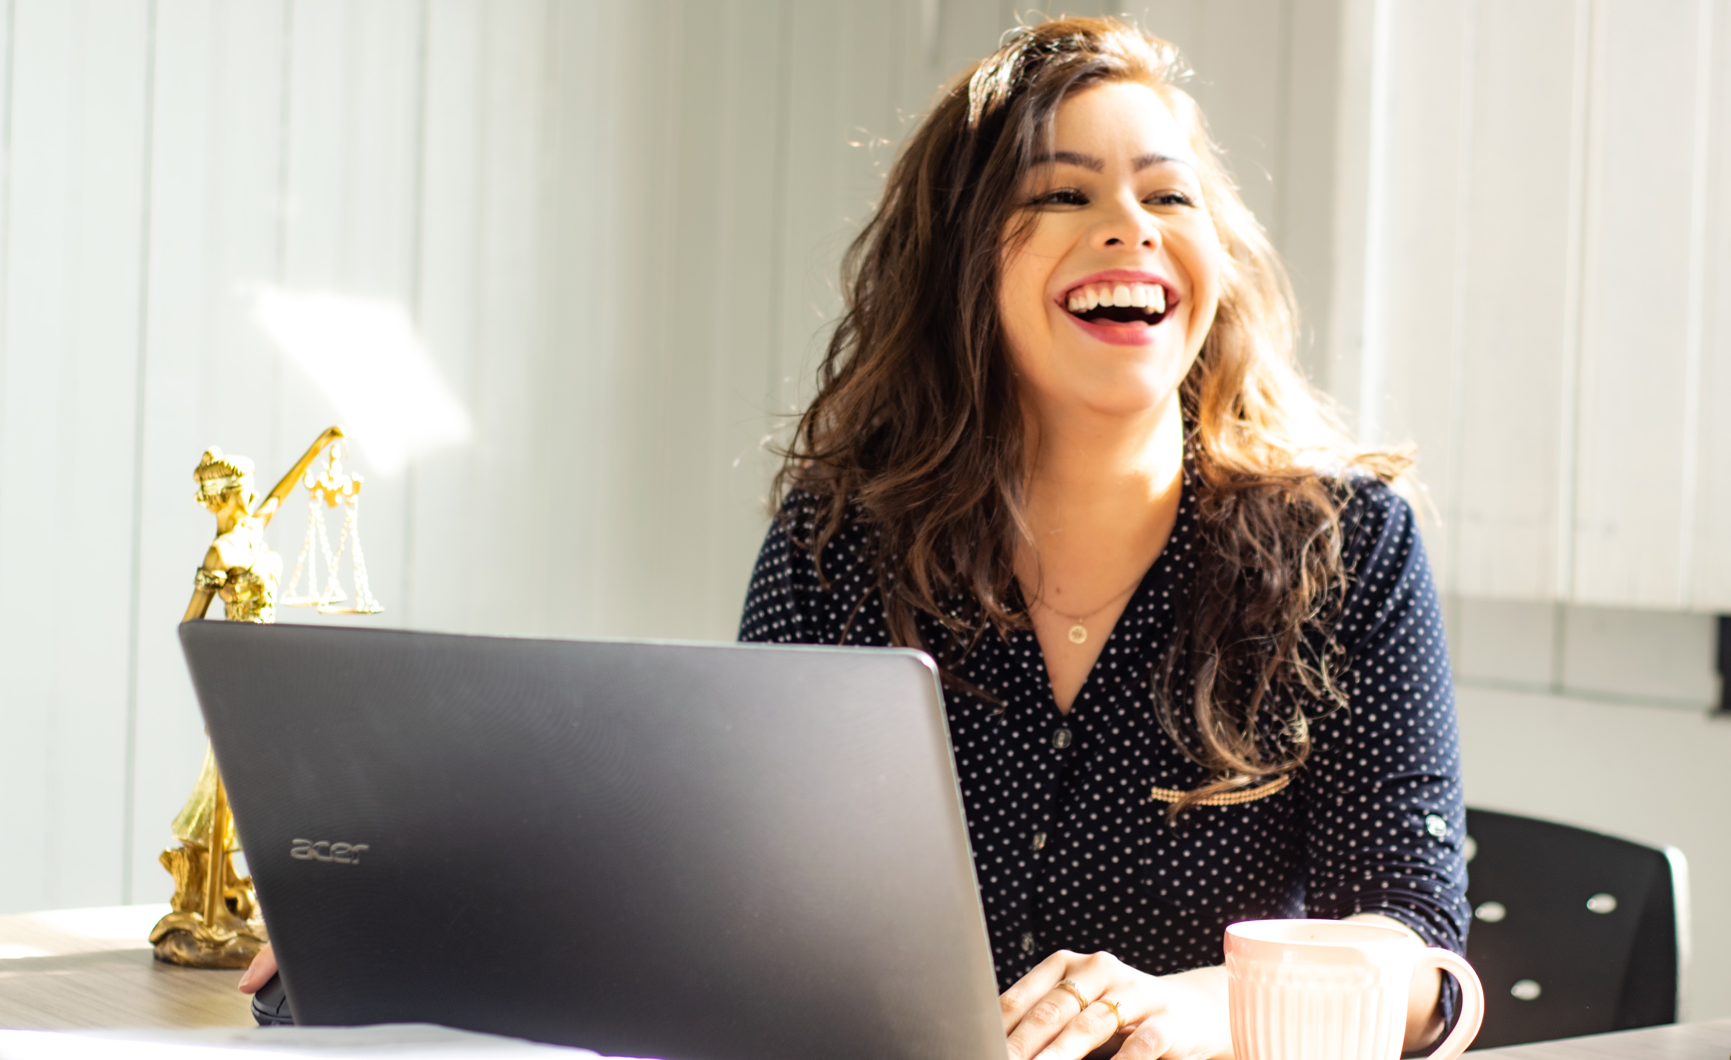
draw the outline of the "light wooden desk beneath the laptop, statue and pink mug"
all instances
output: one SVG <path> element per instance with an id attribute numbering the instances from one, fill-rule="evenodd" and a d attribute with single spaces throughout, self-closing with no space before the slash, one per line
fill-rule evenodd
<path id="1" fill-rule="evenodd" d="M 145 934 L 168 906 L 0 916 L 0 1027 L 251 1027 L 239 972 L 175 968 Z M 1485 1060 L 1728 1060 L 1731 1020 L 1471 1053 Z"/>

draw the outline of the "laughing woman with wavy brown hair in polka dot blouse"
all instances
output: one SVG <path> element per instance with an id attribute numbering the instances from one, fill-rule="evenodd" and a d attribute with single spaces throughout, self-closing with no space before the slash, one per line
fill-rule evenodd
<path id="1" fill-rule="evenodd" d="M 1407 459 L 1295 369 L 1182 78 L 1068 19 L 942 95 L 846 260 L 741 622 L 936 656 L 1014 1060 L 1231 1055 L 1238 920 L 1464 946 Z M 1416 975 L 1407 1044 L 1451 1015 Z"/>

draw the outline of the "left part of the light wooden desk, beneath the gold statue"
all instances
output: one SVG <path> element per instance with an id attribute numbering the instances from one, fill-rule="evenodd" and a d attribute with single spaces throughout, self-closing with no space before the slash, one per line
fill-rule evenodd
<path id="1" fill-rule="evenodd" d="M 251 1027 L 239 972 L 177 968 L 145 935 L 168 906 L 0 916 L 0 1027 Z"/>

